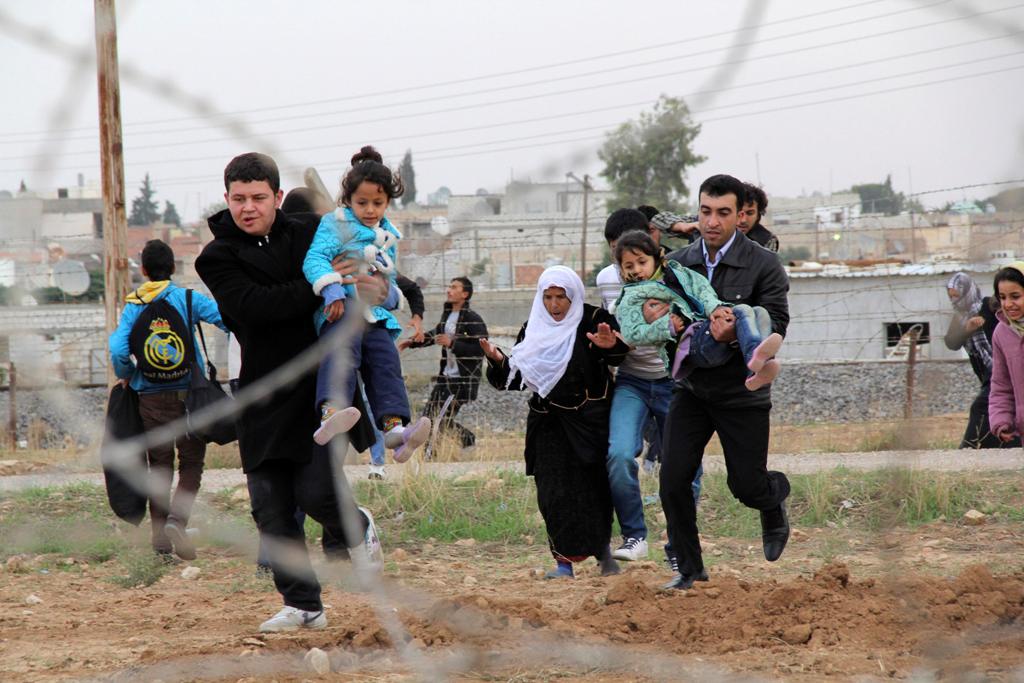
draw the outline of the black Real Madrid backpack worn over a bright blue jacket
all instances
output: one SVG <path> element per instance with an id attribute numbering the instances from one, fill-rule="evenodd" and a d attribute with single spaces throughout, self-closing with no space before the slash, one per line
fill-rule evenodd
<path id="1" fill-rule="evenodd" d="M 167 297 L 146 304 L 128 335 L 128 348 L 150 382 L 178 382 L 188 376 L 196 353 L 188 326 Z"/>

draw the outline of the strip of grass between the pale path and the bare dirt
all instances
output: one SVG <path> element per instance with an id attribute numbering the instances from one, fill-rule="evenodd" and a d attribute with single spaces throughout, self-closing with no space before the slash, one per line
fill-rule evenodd
<path id="1" fill-rule="evenodd" d="M 956 522 L 972 508 L 1024 521 L 1024 475 L 1016 472 L 836 469 L 790 479 L 790 514 L 798 527 L 878 530 L 939 519 Z M 518 472 L 442 478 L 410 470 L 388 481 L 356 481 L 353 488 L 359 504 L 373 511 L 388 545 L 428 539 L 524 547 L 545 543 L 534 481 Z M 657 477 L 642 475 L 641 490 L 648 536 L 656 540 L 665 530 Z M 204 545 L 237 547 L 246 535 L 255 540 L 248 501 L 231 495 L 231 490 L 204 494 L 209 503 Z M 709 536 L 754 539 L 761 532 L 757 511 L 732 497 L 724 473 L 705 475 L 697 516 L 701 531 Z M 101 486 L 75 484 L 10 494 L 0 498 L 0 561 L 22 553 L 43 555 L 44 562 L 52 563 L 67 557 L 91 563 L 117 561 L 124 567 L 125 585 L 147 585 L 159 579 L 163 569 L 155 563 L 148 544 L 135 548 L 134 544 L 143 543 L 138 535 L 118 533 L 119 526 L 124 528 L 108 508 Z M 322 533 L 308 518 L 305 531 L 311 546 Z"/>

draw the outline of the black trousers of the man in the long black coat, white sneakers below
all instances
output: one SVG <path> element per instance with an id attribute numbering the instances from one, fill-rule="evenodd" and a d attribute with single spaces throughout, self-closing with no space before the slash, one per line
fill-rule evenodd
<path id="1" fill-rule="evenodd" d="M 305 533 L 295 519 L 295 510 L 323 524 L 325 538 L 330 533 L 334 539 L 345 539 L 333 470 L 328 449 L 314 445 L 308 463 L 271 460 L 246 475 L 260 543 L 269 551 L 273 584 L 289 607 L 307 611 L 322 608 L 319 582 L 309 563 Z M 344 473 L 338 476 L 347 489 Z M 362 515 L 356 528 L 358 536 L 344 544 L 348 548 L 362 543 L 367 528 Z"/>

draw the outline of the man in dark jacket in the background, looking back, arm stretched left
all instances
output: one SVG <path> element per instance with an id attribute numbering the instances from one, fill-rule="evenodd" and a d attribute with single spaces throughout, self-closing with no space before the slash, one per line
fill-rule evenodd
<path id="1" fill-rule="evenodd" d="M 476 435 L 455 421 L 459 410 L 476 400 L 480 386 L 480 367 L 483 353 L 480 340 L 487 338 L 483 318 L 469 307 L 473 297 L 473 283 L 469 278 L 455 278 L 449 284 L 441 319 L 423 341 L 407 340 L 398 348 L 421 348 L 437 344 L 441 347 L 441 365 L 430 398 L 423 408 L 423 415 L 434 420 L 441 413 L 439 427 L 452 429 L 459 436 L 463 449 L 476 444 Z M 445 410 L 444 404 L 449 403 Z"/>

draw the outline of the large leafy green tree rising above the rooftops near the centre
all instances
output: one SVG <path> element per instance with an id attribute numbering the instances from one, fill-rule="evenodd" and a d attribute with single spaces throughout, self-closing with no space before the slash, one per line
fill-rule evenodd
<path id="1" fill-rule="evenodd" d="M 649 204 L 682 210 L 690 194 L 686 169 L 705 161 L 691 146 L 699 132 L 682 98 L 662 95 L 639 121 L 609 133 L 597 153 L 604 162 L 601 176 L 614 193 L 609 209 Z"/>

